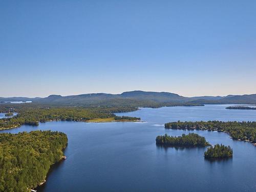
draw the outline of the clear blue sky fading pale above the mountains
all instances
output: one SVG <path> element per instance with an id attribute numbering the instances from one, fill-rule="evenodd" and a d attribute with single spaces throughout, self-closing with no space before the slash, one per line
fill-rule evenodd
<path id="1" fill-rule="evenodd" d="M 0 97 L 256 93 L 256 1 L 0 1 Z"/>

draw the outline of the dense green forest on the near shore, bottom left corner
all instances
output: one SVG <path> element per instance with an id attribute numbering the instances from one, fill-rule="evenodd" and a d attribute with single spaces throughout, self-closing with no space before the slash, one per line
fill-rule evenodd
<path id="1" fill-rule="evenodd" d="M 68 138 L 51 131 L 0 134 L 0 191 L 24 192 L 46 179 Z"/>

